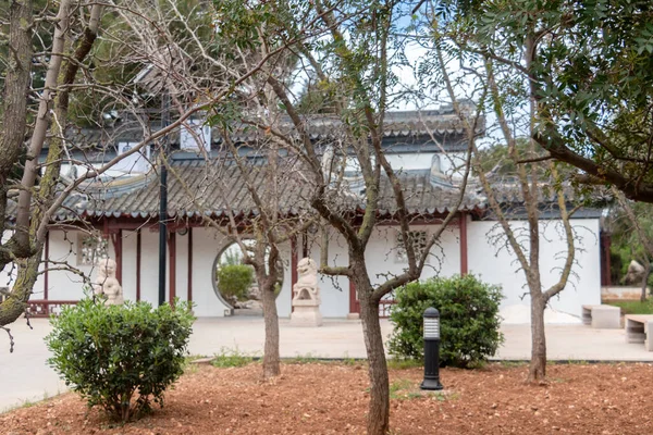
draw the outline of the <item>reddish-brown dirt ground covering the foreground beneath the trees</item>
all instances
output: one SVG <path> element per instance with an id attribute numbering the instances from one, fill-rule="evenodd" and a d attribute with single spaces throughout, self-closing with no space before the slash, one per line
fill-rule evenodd
<path id="1" fill-rule="evenodd" d="M 364 434 L 362 364 L 284 364 L 185 374 L 165 407 L 126 426 L 87 413 L 74 394 L 0 414 L 0 433 L 19 434 Z M 419 369 L 391 371 L 393 434 L 653 434 L 652 364 L 550 365 L 546 385 L 526 385 L 527 366 L 441 371 L 447 395 L 420 395 Z"/>

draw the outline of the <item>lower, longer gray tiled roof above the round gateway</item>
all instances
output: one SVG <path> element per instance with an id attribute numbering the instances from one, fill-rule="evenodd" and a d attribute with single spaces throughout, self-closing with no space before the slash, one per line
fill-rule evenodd
<path id="1" fill-rule="evenodd" d="M 249 166 L 249 176 L 259 191 L 269 186 L 264 166 Z M 280 190 L 275 194 L 279 209 L 286 215 L 300 214 L 308 210 L 313 188 L 310 174 L 293 170 L 281 171 Z M 431 175 L 424 172 L 402 174 L 404 195 L 410 213 L 445 213 L 458 198 L 458 188 L 447 183 L 433 183 Z M 183 181 L 180 182 L 180 181 Z M 331 191 L 333 207 L 343 211 L 361 212 L 365 210 L 365 194 L 360 191 L 360 181 L 349 181 L 348 187 Z M 201 214 L 213 217 L 229 214 L 257 214 L 257 209 L 245 187 L 245 179 L 234 164 L 219 161 L 174 162 L 168 175 L 169 215 L 171 219 L 196 217 Z M 268 195 L 269 194 L 263 194 Z M 262 195 L 262 196 L 263 196 Z M 380 188 L 380 212 L 392 214 L 396 210 L 391 184 L 382 179 Z M 460 210 L 483 208 L 484 201 L 473 191 L 466 194 Z M 79 194 L 66 199 L 57 214 L 58 221 L 75 220 L 79 216 L 107 217 L 152 217 L 159 213 L 159 178 L 151 173 L 127 181 L 114 181 L 106 185 L 97 183 L 84 186 Z"/>

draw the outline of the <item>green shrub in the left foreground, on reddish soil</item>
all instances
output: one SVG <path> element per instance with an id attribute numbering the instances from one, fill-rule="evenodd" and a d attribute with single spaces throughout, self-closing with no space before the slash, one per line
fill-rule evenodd
<path id="1" fill-rule="evenodd" d="M 151 400 L 163 406 L 165 388 L 183 373 L 194 320 L 188 302 L 152 309 L 85 299 L 50 321 L 48 362 L 89 407 L 126 422 L 149 412 Z"/>

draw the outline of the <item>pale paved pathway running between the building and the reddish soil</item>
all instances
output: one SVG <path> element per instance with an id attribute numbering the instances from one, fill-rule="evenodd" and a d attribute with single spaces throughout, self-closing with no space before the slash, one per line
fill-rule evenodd
<path id="1" fill-rule="evenodd" d="M 65 385 L 46 364 L 48 350 L 42 341 L 50 326 L 47 320 L 33 320 L 29 330 L 24 320 L 12 325 L 16 345 L 9 353 L 9 340 L 0 331 L 0 411 L 25 400 L 40 400 L 65 390 Z M 291 327 L 281 320 L 281 356 L 320 358 L 365 358 L 359 321 L 325 320 L 324 326 Z M 190 353 L 211 356 L 227 349 L 261 356 L 263 323 L 260 318 L 200 319 L 194 326 Z M 383 335 L 392 331 L 382 321 Z M 497 359 L 523 360 L 530 353 L 529 325 L 504 325 L 506 341 Z M 582 325 L 546 326 L 550 360 L 652 361 L 653 352 L 643 345 L 627 344 L 624 330 L 592 330 Z"/>

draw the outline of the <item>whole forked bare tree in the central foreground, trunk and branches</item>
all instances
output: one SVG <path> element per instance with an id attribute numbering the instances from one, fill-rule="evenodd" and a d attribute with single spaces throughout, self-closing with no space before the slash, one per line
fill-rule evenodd
<path id="1" fill-rule="evenodd" d="M 454 187 L 455 200 L 442 224 L 423 249 L 416 249 L 411 224 L 430 217 L 408 208 L 407 199 L 415 192 L 406 189 L 401 171 L 393 167 L 382 144 L 386 111 L 392 105 L 389 95 L 396 78 L 392 72 L 394 57 L 401 58 L 398 50 L 402 49 L 401 44 L 395 46 L 392 36 L 399 20 L 395 16 L 398 4 L 391 1 L 360 7 L 354 2 L 318 1 L 293 10 L 278 2 L 242 8 L 238 13 L 248 18 L 243 26 L 256 22 L 252 16 L 264 22 L 257 15 L 264 12 L 278 17 L 268 26 L 280 26 L 291 37 L 298 28 L 319 25 L 324 29 L 319 38 L 296 42 L 291 50 L 299 58 L 299 69 L 306 76 L 317 77 L 326 96 L 329 142 L 316 141 L 311 135 L 312 123 L 325 120 L 300 113 L 292 89 L 278 78 L 270 65 L 261 74 L 267 74 L 267 88 L 276 97 L 274 107 L 285 112 L 292 129 L 279 128 L 274 123 L 259 123 L 258 127 L 274 137 L 289 156 L 301 161 L 305 183 L 311 191 L 310 207 L 346 240 L 348 264 L 329 264 L 328 246 L 323 244 L 320 272 L 346 276 L 356 286 L 371 387 L 367 428 L 369 434 L 384 434 L 389 431 L 390 397 L 379 304 L 393 289 L 420 277 L 431 249 L 458 213 L 469 165 L 459 185 Z M 268 35 L 268 32 L 258 34 L 260 44 L 274 47 L 273 40 L 267 39 Z M 476 128 L 479 120 L 480 115 L 473 113 L 465 122 Z M 350 166 L 357 169 L 354 178 L 348 174 Z M 354 189 L 354 184 L 359 188 Z M 382 210 L 386 207 L 390 210 Z M 357 209 L 365 211 L 359 214 Z M 375 284 L 365 257 L 374 229 L 384 222 L 396 224 L 408 265 L 402 273 L 389 273 Z"/>

